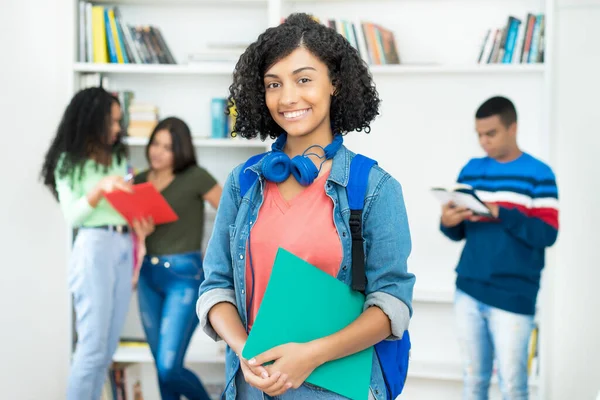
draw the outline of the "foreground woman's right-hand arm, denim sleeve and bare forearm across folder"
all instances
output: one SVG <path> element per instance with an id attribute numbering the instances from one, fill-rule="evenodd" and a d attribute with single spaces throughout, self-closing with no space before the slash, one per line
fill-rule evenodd
<path id="1" fill-rule="evenodd" d="M 383 339 L 397 340 L 408 329 L 415 276 L 408 272 L 411 238 L 402 188 L 386 175 L 363 212 L 366 241 L 366 300 L 363 314 L 320 340 L 327 362 L 354 354 Z"/>

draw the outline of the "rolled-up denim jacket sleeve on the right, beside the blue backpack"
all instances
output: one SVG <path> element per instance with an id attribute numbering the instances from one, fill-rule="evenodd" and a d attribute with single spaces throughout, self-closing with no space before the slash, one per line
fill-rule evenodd
<path id="1" fill-rule="evenodd" d="M 415 276 L 408 272 L 412 243 L 400 183 L 385 175 L 363 212 L 366 242 L 367 307 L 390 319 L 388 340 L 402 338 L 412 316 Z"/>

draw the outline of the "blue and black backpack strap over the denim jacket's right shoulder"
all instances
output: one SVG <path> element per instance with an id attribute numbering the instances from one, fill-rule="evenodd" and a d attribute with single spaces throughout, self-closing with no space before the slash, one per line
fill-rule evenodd
<path id="1" fill-rule="evenodd" d="M 346 186 L 350 206 L 350 233 L 352 234 L 352 289 L 364 292 L 367 287 L 365 249 L 362 236 L 362 211 L 367 194 L 369 172 L 377 161 L 362 154 L 350 162 L 350 177 Z"/>

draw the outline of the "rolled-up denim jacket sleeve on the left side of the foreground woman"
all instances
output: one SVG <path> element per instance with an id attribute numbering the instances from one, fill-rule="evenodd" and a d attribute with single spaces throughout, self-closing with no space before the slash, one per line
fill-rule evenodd
<path id="1" fill-rule="evenodd" d="M 235 185 L 235 169 L 225 182 L 221 195 L 213 232 L 208 242 L 203 261 L 204 281 L 200 285 L 196 313 L 200 327 L 213 340 L 221 340 L 208 319 L 210 309 L 218 303 L 235 302 L 233 269 L 229 247 L 230 226 L 233 226 L 238 212 L 239 187 Z"/>

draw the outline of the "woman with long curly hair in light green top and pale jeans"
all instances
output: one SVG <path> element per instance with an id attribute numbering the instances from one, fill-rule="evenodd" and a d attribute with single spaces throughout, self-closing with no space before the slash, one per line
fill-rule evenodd
<path id="1" fill-rule="evenodd" d="M 64 112 L 42 168 L 44 184 L 60 202 L 68 223 L 78 228 L 69 271 L 77 347 L 68 400 L 100 399 L 131 297 L 132 229 L 103 197 L 114 190 L 131 190 L 124 179 L 127 163 L 119 140 L 120 121 L 119 101 L 106 90 L 78 92 Z M 151 221 L 134 224 L 142 241 L 153 229 Z"/>

